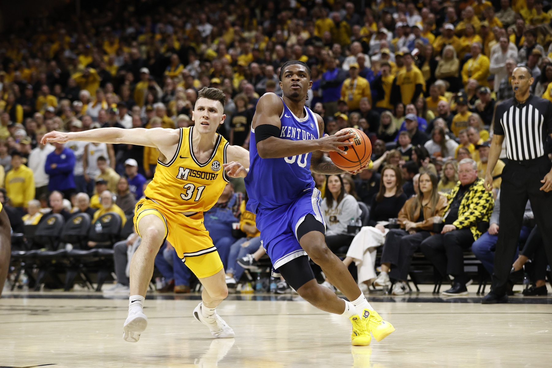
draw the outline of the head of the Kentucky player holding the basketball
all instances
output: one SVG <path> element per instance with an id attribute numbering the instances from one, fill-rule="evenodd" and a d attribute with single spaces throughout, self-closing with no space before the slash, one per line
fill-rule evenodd
<path id="1" fill-rule="evenodd" d="M 293 101 L 305 100 L 312 86 L 311 71 L 302 61 L 288 61 L 280 68 L 280 87 L 284 97 Z"/>

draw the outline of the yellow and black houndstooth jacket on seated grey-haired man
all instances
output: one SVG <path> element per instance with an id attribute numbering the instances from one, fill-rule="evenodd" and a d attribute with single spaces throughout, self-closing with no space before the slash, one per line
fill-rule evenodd
<path id="1" fill-rule="evenodd" d="M 471 233 L 474 234 L 475 240 L 481 236 L 481 231 L 477 230 L 477 223 L 489 222 L 492 209 L 495 206 L 495 199 L 492 196 L 492 191 L 485 190 L 483 186 L 484 182 L 484 179 L 477 178 L 470 186 L 470 189 L 468 189 L 468 192 L 460 202 L 458 220 L 453 222 L 453 225 L 456 226 L 457 229 L 469 227 Z M 444 211 L 445 217 L 448 215 L 452 199 L 458 193 L 459 188 L 460 182 L 456 184 L 450 194 L 445 194 L 449 200 L 449 204 Z"/>

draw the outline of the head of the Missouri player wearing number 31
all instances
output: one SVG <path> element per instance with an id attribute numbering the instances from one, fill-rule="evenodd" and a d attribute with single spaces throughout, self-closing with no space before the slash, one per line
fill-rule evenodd
<path id="1" fill-rule="evenodd" d="M 209 87 L 201 88 L 192 113 L 195 129 L 203 134 L 216 132 L 219 125 L 226 119 L 225 102 L 226 95 L 222 90 Z"/>

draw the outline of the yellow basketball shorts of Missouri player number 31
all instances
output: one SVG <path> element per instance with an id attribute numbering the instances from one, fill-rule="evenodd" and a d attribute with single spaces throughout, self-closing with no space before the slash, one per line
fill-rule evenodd
<path id="1" fill-rule="evenodd" d="M 185 216 L 143 198 L 136 204 L 134 215 L 136 232 L 140 237 L 142 234 L 139 229 L 147 226 L 148 215 L 155 215 L 164 222 L 165 238 L 198 278 L 213 276 L 223 268 L 219 252 L 203 226 L 203 212 Z M 146 223 L 141 223 L 144 218 Z"/>

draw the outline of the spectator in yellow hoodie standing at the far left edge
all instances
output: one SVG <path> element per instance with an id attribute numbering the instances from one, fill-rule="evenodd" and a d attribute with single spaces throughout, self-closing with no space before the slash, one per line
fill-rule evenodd
<path id="1" fill-rule="evenodd" d="M 33 170 L 23 164 L 18 151 L 12 152 L 12 169 L 6 174 L 6 194 L 14 207 L 25 207 L 35 196 Z"/>

